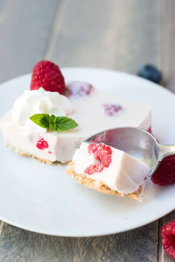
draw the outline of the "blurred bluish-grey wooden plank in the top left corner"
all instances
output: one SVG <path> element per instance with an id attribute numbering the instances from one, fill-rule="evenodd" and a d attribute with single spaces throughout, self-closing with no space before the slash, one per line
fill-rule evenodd
<path id="1" fill-rule="evenodd" d="M 57 0 L 0 1 L 0 82 L 31 72 L 44 58 Z"/>

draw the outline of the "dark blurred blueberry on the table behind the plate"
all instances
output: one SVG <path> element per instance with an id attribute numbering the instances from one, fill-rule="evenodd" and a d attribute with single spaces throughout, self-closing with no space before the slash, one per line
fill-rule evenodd
<path id="1" fill-rule="evenodd" d="M 143 65 L 137 72 L 137 75 L 157 84 L 160 83 L 162 78 L 161 72 L 151 64 Z"/>

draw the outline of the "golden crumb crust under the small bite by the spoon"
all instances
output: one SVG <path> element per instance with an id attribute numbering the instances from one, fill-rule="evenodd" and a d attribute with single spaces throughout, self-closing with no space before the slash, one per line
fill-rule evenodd
<path id="1" fill-rule="evenodd" d="M 143 200 L 141 198 L 139 198 L 139 190 L 135 191 L 132 194 L 121 194 L 115 190 L 111 190 L 109 187 L 107 187 L 106 185 L 104 185 L 101 181 L 101 183 L 98 183 L 97 185 L 97 181 L 93 180 L 92 178 L 88 178 L 85 176 L 85 174 L 77 174 L 74 171 L 74 162 L 70 162 L 69 165 L 67 166 L 66 169 L 66 174 L 68 176 L 70 176 L 71 178 L 74 178 L 75 180 L 78 181 L 78 183 L 89 187 L 91 189 L 95 189 L 99 192 L 102 192 L 104 194 L 110 194 L 110 195 L 115 195 L 115 196 L 120 196 L 120 197 L 130 197 L 130 199 L 135 199 L 139 202 L 142 202 Z M 139 188 L 140 189 L 140 188 Z"/>

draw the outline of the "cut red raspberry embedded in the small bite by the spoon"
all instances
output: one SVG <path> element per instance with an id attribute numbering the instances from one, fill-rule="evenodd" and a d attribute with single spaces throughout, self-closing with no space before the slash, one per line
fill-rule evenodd
<path id="1" fill-rule="evenodd" d="M 94 154 L 95 158 L 100 160 L 100 163 L 95 165 L 91 164 L 89 167 L 85 169 L 85 173 L 92 175 L 96 172 L 101 172 L 104 167 L 108 167 L 111 163 L 111 154 L 112 150 L 110 146 L 106 146 L 103 143 L 97 145 L 89 145 L 88 152 L 90 154 Z"/>

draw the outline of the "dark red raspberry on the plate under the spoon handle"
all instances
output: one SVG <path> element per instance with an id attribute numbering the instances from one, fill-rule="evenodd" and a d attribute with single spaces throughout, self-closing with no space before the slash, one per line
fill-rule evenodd
<path id="1" fill-rule="evenodd" d="M 165 157 L 151 176 L 154 184 L 170 185 L 175 182 L 175 155 Z"/>

